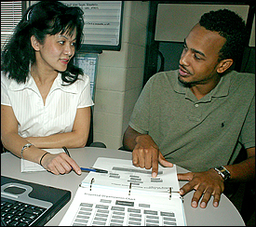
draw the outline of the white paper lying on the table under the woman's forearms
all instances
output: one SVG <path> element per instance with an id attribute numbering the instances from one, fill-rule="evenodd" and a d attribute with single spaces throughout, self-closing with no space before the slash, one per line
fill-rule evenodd
<path id="1" fill-rule="evenodd" d="M 59 154 L 63 153 L 63 149 L 58 148 L 58 149 L 43 149 L 44 151 L 51 153 L 51 154 Z M 25 159 L 20 159 L 21 162 L 21 172 L 35 172 L 35 171 L 47 171 L 46 168 L 42 167 L 41 165 L 25 160 Z"/>

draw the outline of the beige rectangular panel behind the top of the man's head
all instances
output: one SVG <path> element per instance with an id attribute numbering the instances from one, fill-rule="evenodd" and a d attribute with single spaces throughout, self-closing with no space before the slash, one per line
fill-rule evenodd
<path id="1" fill-rule="evenodd" d="M 223 4 L 158 4 L 155 24 L 155 40 L 183 42 L 200 17 L 210 10 L 227 8 L 246 20 L 248 5 Z M 175 22 L 170 22 L 175 21 Z M 182 29 L 181 29 L 182 27 Z"/>

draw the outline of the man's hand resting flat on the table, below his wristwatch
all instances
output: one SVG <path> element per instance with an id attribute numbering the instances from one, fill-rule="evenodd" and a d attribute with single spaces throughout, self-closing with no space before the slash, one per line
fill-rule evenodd
<path id="1" fill-rule="evenodd" d="M 189 180 L 180 190 L 180 194 L 187 194 L 195 189 L 191 206 L 197 207 L 199 199 L 202 197 L 200 207 L 205 208 L 208 205 L 210 196 L 213 195 L 213 206 L 218 207 L 221 194 L 224 190 L 224 182 L 214 169 L 205 172 L 189 172 L 178 174 L 178 180 Z"/>

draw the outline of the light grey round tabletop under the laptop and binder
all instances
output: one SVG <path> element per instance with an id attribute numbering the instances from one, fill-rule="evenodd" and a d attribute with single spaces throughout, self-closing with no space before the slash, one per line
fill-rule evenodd
<path id="1" fill-rule="evenodd" d="M 92 167 L 98 157 L 114 157 L 121 159 L 131 159 L 131 153 L 111 150 L 104 148 L 76 148 L 69 149 L 71 156 L 80 167 Z M 186 172 L 182 167 L 178 167 L 179 173 Z M 57 226 L 61 222 L 63 215 L 70 206 L 74 194 L 77 190 L 78 184 L 87 176 L 88 173 L 83 172 L 81 176 L 78 176 L 74 171 L 65 175 L 54 175 L 47 171 L 45 172 L 33 172 L 33 173 L 21 173 L 20 172 L 20 158 L 13 154 L 5 153 L 1 154 L 1 175 L 10 178 L 16 178 L 19 180 L 27 180 L 35 183 L 41 183 L 48 186 L 66 189 L 72 192 L 71 200 L 62 207 L 61 210 L 47 222 L 47 226 Z M 180 181 L 182 186 L 185 182 Z M 191 199 L 194 192 L 184 195 L 184 209 L 187 220 L 187 225 L 191 226 L 245 226 L 239 212 L 236 207 L 230 202 L 230 200 L 222 194 L 219 207 L 212 206 L 212 198 L 209 201 L 209 205 L 206 208 L 191 207 Z"/>

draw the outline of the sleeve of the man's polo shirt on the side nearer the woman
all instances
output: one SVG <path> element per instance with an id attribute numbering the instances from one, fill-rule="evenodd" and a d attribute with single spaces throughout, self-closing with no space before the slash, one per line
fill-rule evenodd
<path id="1" fill-rule="evenodd" d="M 153 79 L 150 78 L 141 91 L 139 99 L 136 101 L 130 117 L 129 126 L 141 134 L 149 131 L 150 116 L 150 92 Z"/>

